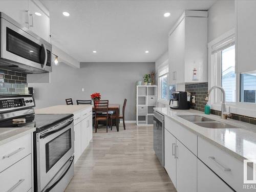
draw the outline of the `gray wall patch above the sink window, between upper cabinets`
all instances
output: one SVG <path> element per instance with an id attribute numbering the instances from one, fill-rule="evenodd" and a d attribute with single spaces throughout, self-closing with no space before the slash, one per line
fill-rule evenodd
<path id="1" fill-rule="evenodd" d="M 234 28 L 234 0 L 217 1 L 208 10 L 208 42 Z"/>

